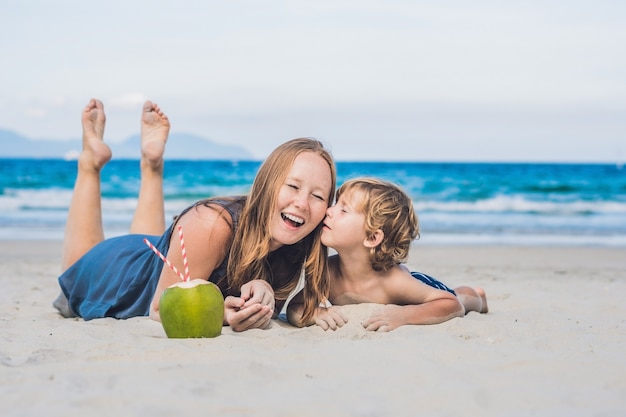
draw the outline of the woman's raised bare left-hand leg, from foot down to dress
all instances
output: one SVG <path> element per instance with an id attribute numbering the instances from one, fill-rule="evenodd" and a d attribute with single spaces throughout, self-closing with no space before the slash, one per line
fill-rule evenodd
<path id="1" fill-rule="evenodd" d="M 111 159 L 111 149 L 103 141 L 106 116 L 102 102 L 91 99 L 81 121 L 83 150 L 78 158 L 78 173 L 65 224 L 62 271 L 104 240 L 100 171 Z"/>

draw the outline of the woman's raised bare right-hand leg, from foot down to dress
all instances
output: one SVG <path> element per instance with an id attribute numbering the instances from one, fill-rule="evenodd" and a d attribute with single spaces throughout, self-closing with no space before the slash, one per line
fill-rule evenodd
<path id="1" fill-rule="evenodd" d="M 160 235 L 165 231 L 163 197 L 163 153 L 170 121 L 150 101 L 141 113 L 141 185 L 130 233 Z"/>

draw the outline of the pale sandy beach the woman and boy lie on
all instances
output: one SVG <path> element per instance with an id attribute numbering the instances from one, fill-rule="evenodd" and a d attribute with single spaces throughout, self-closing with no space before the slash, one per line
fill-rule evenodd
<path id="1" fill-rule="evenodd" d="M 408 265 L 490 312 L 390 333 L 168 339 L 148 318 L 64 319 L 60 242 L 0 242 L 2 416 L 623 416 L 626 251 L 422 246 Z"/>

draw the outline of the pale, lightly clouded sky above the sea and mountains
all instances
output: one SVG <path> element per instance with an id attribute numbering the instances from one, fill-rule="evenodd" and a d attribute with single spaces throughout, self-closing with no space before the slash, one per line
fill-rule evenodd
<path id="1" fill-rule="evenodd" d="M 0 0 L 0 128 L 79 138 L 97 97 L 116 142 L 150 99 L 259 159 L 623 162 L 625 48 L 622 0 Z"/>

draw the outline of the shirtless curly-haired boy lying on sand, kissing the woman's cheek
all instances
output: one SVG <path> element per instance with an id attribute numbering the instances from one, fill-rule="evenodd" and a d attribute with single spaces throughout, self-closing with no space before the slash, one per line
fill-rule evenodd
<path id="1" fill-rule="evenodd" d="M 287 310 L 296 326 L 317 324 L 336 330 L 346 323 L 337 306 L 384 304 L 363 326 L 390 331 L 406 324 L 437 324 L 470 311 L 487 313 L 481 288 L 454 290 L 400 264 L 419 236 L 411 199 L 396 185 L 375 178 L 347 181 L 337 190 L 337 203 L 326 212 L 322 243 L 337 252 L 329 258 L 333 306 L 319 307 L 313 319 L 302 320 L 296 298 Z"/>

